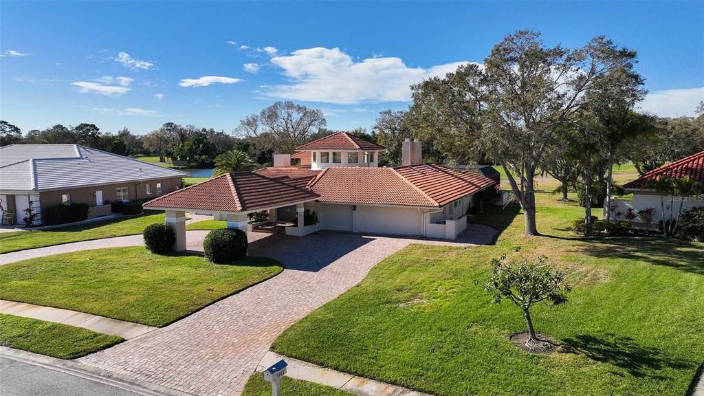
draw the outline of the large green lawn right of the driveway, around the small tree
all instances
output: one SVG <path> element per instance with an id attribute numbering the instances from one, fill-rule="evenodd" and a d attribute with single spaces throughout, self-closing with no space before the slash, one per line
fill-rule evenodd
<path id="1" fill-rule="evenodd" d="M 518 209 L 472 218 L 502 230 L 496 245 L 411 245 L 356 287 L 287 329 L 272 349 L 433 395 L 684 395 L 704 361 L 704 244 L 571 235 L 574 203 L 538 196 L 545 236 L 524 237 Z M 509 336 L 520 310 L 493 304 L 490 261 L 546 254 L 571 268 L 569 302 L 540 305 L 536 330 L 562 344 L 530 354 Z"/>

